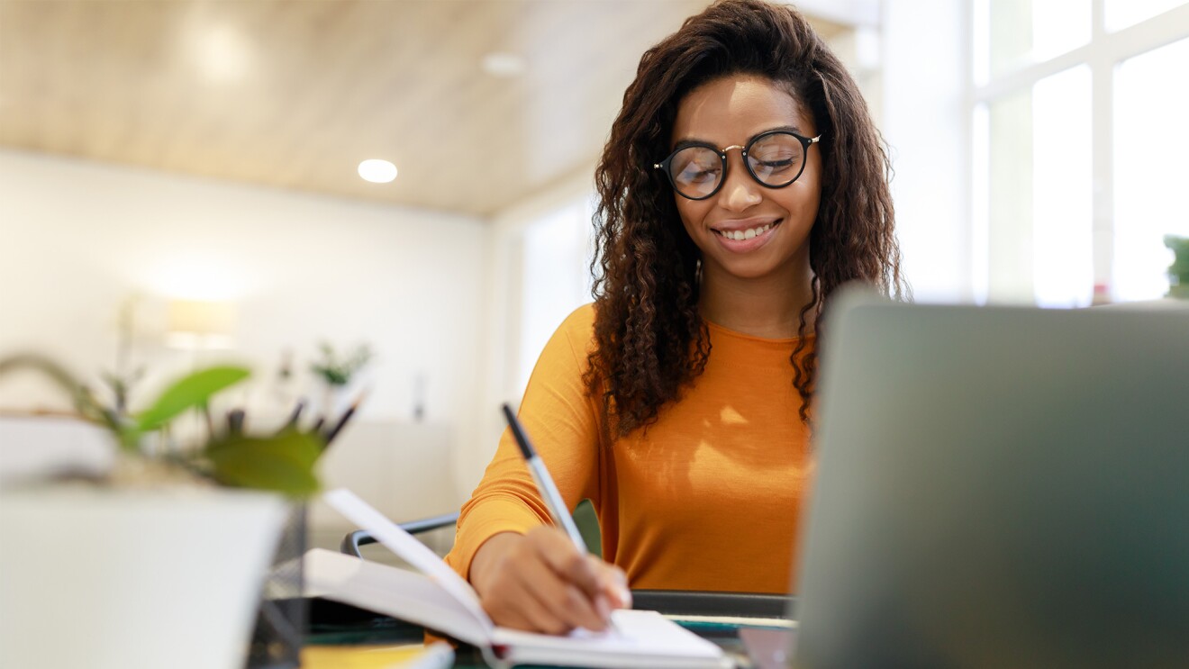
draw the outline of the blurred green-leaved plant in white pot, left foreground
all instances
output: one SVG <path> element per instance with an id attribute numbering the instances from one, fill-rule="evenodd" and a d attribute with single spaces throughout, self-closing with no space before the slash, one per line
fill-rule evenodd
<path id="1" fill-rule="evenodd" d="M 106 476 L 0 491 L 0 665 L 241 669 L 287 500 L 317 490 L 321 437 L 252 434 L 243 411 L 216 421 L 210 402 L 243 367 L 187 374 L 137 412 L 44 356 L 0 359 L 0 378 L 21 370 L 118 455 Z M 187 438 L 184 416 L 205 429 Z"/>

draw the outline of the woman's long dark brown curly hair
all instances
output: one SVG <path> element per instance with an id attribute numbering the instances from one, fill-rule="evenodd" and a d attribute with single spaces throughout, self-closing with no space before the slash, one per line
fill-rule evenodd
<path id="1" fill-rule="evenodd" d="M 893 234 L 891 163 L 855 81 L 792 7 L 716 2 L 644 52 L 594 172 L 597 347 L 584 380 L 592 397 L 602 396 L 618 436 L 654 422 L 710 355 L 698 313 L 700 252 L 653 164 L 671 151 L 681 100 L 738 74 L 784 87 L 822 133 L 822 197 L 809 239 L 812 299 L 800 311 L 800 339 L 789 360 L 803 421 L 819 348 L 807 335 L 819 330 L 833 291 L 861 280 L 887 296 L 907 295 Z"/>

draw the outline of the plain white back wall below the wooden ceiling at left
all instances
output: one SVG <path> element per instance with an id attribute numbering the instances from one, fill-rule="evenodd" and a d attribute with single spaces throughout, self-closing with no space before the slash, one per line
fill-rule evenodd
<path id="1" fill-rule="evenodd" d="M 426 422 L 458 440 L 476 404 L 485 234 L 468 216 L 0 151 L 0 354 L 33 348 L 80 373 L 111 368 L 117 310 L 139 294 L 139 361 L 181 370 L 194 358 L 164 347 L 166 299 L 226 299 L 231 354 L 258 375 L 284 349 L 303 371 L 322 339 L 369 342 L 360 423 L 411 422 L 423 375 Z M 0 409 L 40 406 L 63 403 L 32 378 L 0 381 Z M 438 512 L 468 492 L 439 482 Z"/>

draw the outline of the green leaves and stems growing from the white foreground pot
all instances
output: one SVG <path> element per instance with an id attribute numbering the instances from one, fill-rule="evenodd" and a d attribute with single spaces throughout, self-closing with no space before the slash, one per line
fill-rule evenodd
<path id="1" fill-rule="evenodd" d="M 141 457 L 149 457 L 141 449 L 145 437 L 165 436 L 170 424 L 188 412 L 207 414 L 215 395 L 251 375 L 249 370 L 235 366 L 199 370 L 174 381 L 144 411 L 122 415 L 106 406 L 86 384 L 49 358 L 20 354 L 0 359 L 0 378 L 19 370 L 48 377 L 68 393 L 80 416 L 108 430 L 125 453 Z M 153 457 L 168 460 L 224 486 L 295 497 L 317 492 L 314 465 L 322 453 L 322 437 L 294 428 L 266 436 L 249 436 L 229 428 L 220 433 L 207 415 L 209 434 L 203 444 L 184 453 Z"/>

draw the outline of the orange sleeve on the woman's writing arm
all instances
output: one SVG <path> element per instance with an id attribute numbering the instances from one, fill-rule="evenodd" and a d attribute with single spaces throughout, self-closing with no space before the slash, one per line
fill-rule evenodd
<path id="1" fill-rule="evenodd" d="M 518 417 L 570 511 L 584 498 L 600 506 L 599 400 L 586 395 L 583 373 L 592 342 L 593 308 L 571 314 L 554 332 L 537 359 Z M 499 532 L 526 532 L 551 523 L 549 511 L 504 429 L 496 455 L 463 505 L 454 548 L 446 562 L 468 579 L 476 551 Z"/>

